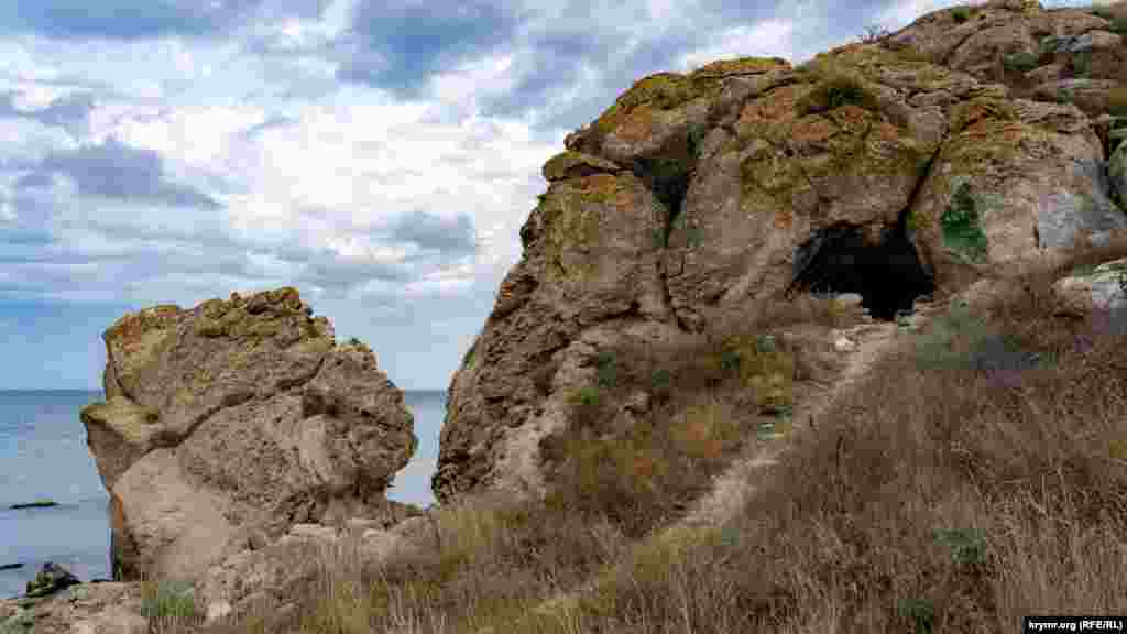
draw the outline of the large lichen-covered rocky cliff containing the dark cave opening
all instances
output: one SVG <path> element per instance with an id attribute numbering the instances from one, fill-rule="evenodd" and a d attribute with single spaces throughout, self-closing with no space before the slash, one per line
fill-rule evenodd
<path id="1" fill-rule="evenodd" d="M 568 135 L 450 387 L 438 500 L 542 492 L 536 441 L 609 342 L 693 337 L 807 291 L 857 292 L 890 319 L 1127 230 L 1122 148 L 1107 160 L 1124 37 L 1036 2 L 965 10 L 799 68 L 654 74 Z"/>

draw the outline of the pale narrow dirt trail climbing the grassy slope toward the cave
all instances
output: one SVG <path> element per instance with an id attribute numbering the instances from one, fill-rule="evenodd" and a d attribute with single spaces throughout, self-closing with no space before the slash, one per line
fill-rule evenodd
<path id="1" fill-rule="evenodd" d="M 917 301 L 914 312 L 906 318 L 906 326 L 900 326 L 895 322 L 877 322 L 864 317 L 862 323 L 854 326 L 831 331 L 831 343 L 838 341 L 840 337 L 845 337 L 852 342 L 853 347 L 838 349 L 838 361 L 842 366 L 828 386 L 815 387 L 801 400 L 796 402 L 791 413 L 791 433 L 804 433 L 811 422 L 817 428 L 818 421 L 827 407 L 846 389 L 855 386 L 876 361 L 885 354 L 898 350 L 899 346 L 911 346 L 912 333 L 920 331 L 937 316 L 946 315 L 948 307 L 959 297 L 961 296 L 956 296 L 950 300 Z M 726 522 L 747 503 L 749 496 L 756 491 L 755 483 L 762 479 L 762 477 L 756 476 L 756 470 L 778 464 L 787 444 L 786 439 L 751 442 L 744 454 L 716 478 L 712 492 L 698 499 L 684 518 L 666 528 L 656 538 L 669 543 L 683 536 L 691 536 L 702 527 L 715 527 Z M 589 591 L 594 583 L 596 581 L 592 580 L 579 588 L 568 589 L 566 592 L 542 602 L 533 611 L 541 615 L 561 616 L 565 611 L 574 609 L 579 595 Z"/>

